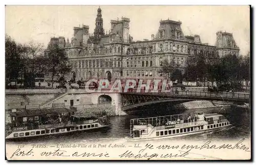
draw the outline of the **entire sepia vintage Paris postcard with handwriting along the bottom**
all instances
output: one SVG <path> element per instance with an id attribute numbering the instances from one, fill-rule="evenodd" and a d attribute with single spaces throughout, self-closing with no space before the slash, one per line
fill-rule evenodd
<path id="1" fill-rule="evenodd" d="M 250 6 L 5 10 L 7 160 L 251 159 Z"/>

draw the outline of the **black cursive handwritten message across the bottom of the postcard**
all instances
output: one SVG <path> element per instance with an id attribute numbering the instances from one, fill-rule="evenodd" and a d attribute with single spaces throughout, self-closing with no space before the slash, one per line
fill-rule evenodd
<path id="1" fill-rule="evenodd" d="M 250 147 L 246 146 L 244 143 L 245 139 L 242 139 L 236 143 L 223 143 L 223 144 L 215 144 L 211 141 L 204 142 L 200 145 L 156 145 L 154 144 L 146 144 L 141 147 L 134 147 L 134 149 L 126 149 L 126 150 L 119 150 L 118 152 L 112 153 L 110 155 L 105 150 L 101 150 L 101 152 L 88 152 L 89 149 L 84 150 L 67 150 L 65 148 L 61 149 L 54 149 L 54 150 L 45 150 L 45 151 L 37 151 L 36 149 L 25 149 L 25 148 L 18 148 L 15 152 L 12 153 L 10 158 L 13 157 L 33 157 L 41 156 L 41 157 L 99 157 L 99 158 L 106 158 L 106 157 L 114 157 L 115 154 L 119 156 L 119 158 L 134 158 L 134 159 L 172 159 L 172 158 L 186 158 L 186 159 L 222 159 L 221 157 L 211 156 L 211 153 L 214 152 L 204 152 L 204 150 L 219 150 L 226 151 L 226 150 L 234 150 L 234 152 L 240 150 L 244 152 L 250 152 Z M 137 145 L 139 146 L 139 144 Z M 89 147 L 90 148 L 90 147 Z M 102 148 L 103 149 L 103 148 Z M 112 150 L 112 149 L 110 149 Z M 201 150 L 201 152 L 199 152 Z M 37 152 L 36 152 L 37 151 Z M 121 154 L 120 154 L 121 153 Z M 208 153 L 208 154 L 206 154 Z M 215 152 L 216 153 L 216 152 Z M 113 155 L 114 154 L 114 155 Z"/>

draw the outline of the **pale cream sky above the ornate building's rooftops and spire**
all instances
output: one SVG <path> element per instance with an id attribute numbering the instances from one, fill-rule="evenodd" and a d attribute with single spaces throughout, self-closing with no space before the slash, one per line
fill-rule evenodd
<path id="1" fill-rule="evenodd" d="M 47 45 L 51 37 L 73 36 L 73 27 L 95 28 L 99 6 L 6 6 L 6 34 L 17 42 L 30 41 Z M 249 6 L 100 6 L 103 28 L 110 30 L 110 20 L 130 18 L 134 41 L 156 35 L 159 21 L 181 21 L 184 35 L 200 35 L 202 43 L 215 45 L 216 32 L 232 33 L 240 54 L 250 50 Z"/>

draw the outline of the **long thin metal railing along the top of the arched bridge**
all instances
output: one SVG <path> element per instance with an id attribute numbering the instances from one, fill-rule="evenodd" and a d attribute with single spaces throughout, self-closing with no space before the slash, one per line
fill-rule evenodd
<path id="1" fill-rule="evenodd" d="M 127 91 L 127 93 L 137 93 L 137 89 Z M 250 99 L 250 94 L 248 93 L 231 93 L 231 92 L 203 92 L 203 91 L 170 91 L 170 92 L 151 92 L 141 90 L 140 93 L 150 93 L 150 94 L 163 94 L 163 95 L 177 95 L 177 96 L 200 96 L 200 97 L 221 97 L 221 98 L 240 98 L 240 99 Z"/>

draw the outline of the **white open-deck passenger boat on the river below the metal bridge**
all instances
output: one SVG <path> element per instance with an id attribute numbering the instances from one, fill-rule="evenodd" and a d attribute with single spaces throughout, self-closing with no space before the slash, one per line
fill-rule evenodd
<path id="1" fill-rule="evenodd" d="M 129 141 L 165 139 L 208 132 L 231 126 L 220 114 L 179 114 L 151 118 L 131 119 Z"/>

